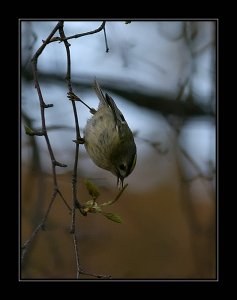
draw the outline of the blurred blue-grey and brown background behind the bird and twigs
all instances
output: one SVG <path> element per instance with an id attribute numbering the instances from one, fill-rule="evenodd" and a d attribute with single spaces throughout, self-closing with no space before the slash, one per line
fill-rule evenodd
<path id="1" fill-rule="evenodd" d="M 57 21 L 21 21 L 21 244 L 39 224 L 53 191 L 51 161 L 41 129 L 40 105 L 30 60 Z M 65 21 L 66 36 L 95 30 L 101 22 Z M 96 77 L 134 132 L 138 159 L 128 188 L 108 208 L 117 224 L 77 211 L 81 265 L 113 279 L 216 278 L 216 22 L 106 22 L 103 31 L 69 40 L 73 91 L 97 108 Z M 55 36 L 59 36 L 58 32 Z M 46 125 L 60 191 L 71 205 L 76 138 L 67 98 L 63 43 L 46 46 L 38 60 Z M 81 135 L 90 112 L 77 102 Z M 78 198 L 90 199 L 83 180 L 96 184 L 98 202 L 116 197 L 116 178 L 98 168 L 80 146 Z M 22 279 L 74 279 L 71 216 L 60 198 L 34 240 Z M 81 278 L 91 278 L 81 276 Z"/>

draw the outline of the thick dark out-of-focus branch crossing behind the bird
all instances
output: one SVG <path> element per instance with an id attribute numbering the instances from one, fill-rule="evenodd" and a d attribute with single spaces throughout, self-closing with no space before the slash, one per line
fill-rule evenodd
<path id="1" fill-rule="evenodd" d="M 27 81 L 32 80 L 32 75 L 29 71 L 22 72 L 22 76 Z M 63 83 L 61 75 L 50 74 L 41 72 L 39 74 L 40 80 L 45 83 L 54 82 L 58 84 Z M 72 81 L 74 87 L 82 90 L 92 90 L 91 78 L 86 78 L 85 81 Z M 128 101 L 135 103 L 138 106 L 148 108 L 152 111 L 157 111 L 163 116 L 175 115 L 184 117 L 185 119 L 193 118 L 196 116 L 210 116 L 215 117 L 215 112 L 210 109 L 210 105 L 204 104 L 204 101 L 196 101 L 193 95 L 188 95 L 186 101 L 175 101 L 175 97 L 167 95 L 151 95 L 140 92 L 140 89 L 136 89 L 133 83 L 127 81 L 120 81 L 120 87 L 117 87 L 118 82 L 111 79 L 104 79 L 103 86 L 107 91 L 115 93 L 118 96 L 124 97 Z M 133 88 L 130 88 L 133 86 Z"/>

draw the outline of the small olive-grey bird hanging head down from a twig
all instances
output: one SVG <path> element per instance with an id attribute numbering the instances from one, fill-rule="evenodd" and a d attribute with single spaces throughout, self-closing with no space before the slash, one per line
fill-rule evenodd
<path id="1" fill-rule="evenodd" d="M 85 148 L 92 161 L 117 177 L 117 185 L 123 187 L 124 178 L 136 165 L 137 150 L 133 133 L 114 100 L 102 92 L 95 79 L 94 89 L 100 100 L 97 111 L 91 110 L 85 132 Z"/>

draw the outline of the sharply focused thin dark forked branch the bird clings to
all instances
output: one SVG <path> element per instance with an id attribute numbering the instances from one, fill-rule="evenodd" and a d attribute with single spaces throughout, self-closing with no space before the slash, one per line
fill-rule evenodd
<path id="1" fill-rule="evenodd" d="M 60 196 L 61 200 L 63 201 L 63 203 L 66 205 L 66 207 L 68 208 L 68 210 L 72 213 L 71 233 L 73 234 L 73 242 L 74 242 L 74 249 L 75 249 L 75 256 L 76 256 L 77 278 L 79 278 L 80 274 L 90 275 L 90 276 L 93 276 L 93 277 L 96 277 L 96 278 L 110 278 L 110 276 L 90 274 L 90 273 L 85 272 L 80 267 L 78 241 L 77 241 L 77 236 L 76 236 L 76 233 L 75 233 L 75 217 L 76 217 L 75 210 L 76 210 L 76 208 L 79 208 L 80 212 L 83 215 L 86 215 L 86 212 L 84 211 L 84 207 L 79 203 L 79 201 L 77 199 L 77 177 L 78 177 L 78 175 L 77 175 L 77 169 L 78 169 L 78 157 L 79 157 L 79 144 L 80 143 L 76 143 L 76 145 L 75 145 L 75 159 L 74 159 L 74 168 L 73 168 L 73 174 L 72 174 L 72 192 L 73 192 L 72 202 L 73 202 L 73 206 L 71 208 L 68 205 L 68 203 L 66 202 L 63 194 L 61 193 L 61 191 L 59 190 L 59 187 L 58 187 L 56 167 L 57 166 L 66 167 L 66 165 L 58 162 L 55 159 L 54 152 L 53 152 L 53 149 L 51 147 L 51 143 L 50 143 L 50 140 L 49 140 L 49 137 L 48 137 L 48 128 L 46 127 L 46 120 L 45 120 L 45 109 L 53 107 L 53 104 L 46 104 L 45 101 L 44 101 L 44 99 L 43 99 L 43 95 L 42 95 L 40 84 L 39 84 L 37 63 L 38 63 L 39 56 L 42 54 L 42 52 L 44 51 L 45 47 L 49 43 L 51 43 L 53 41 L 57 41 L 57 40 L 63 41 L 64 45 L 65 45 L 65 49 L 66 49 L 66 54 L 67 54 L 67 74 L 66 74 L 66 81 L 67 81 L 67 85 L 68 85 L 69 94 L 73 93 L 72 83 L 71 83 L 70 44 L 68 43 L 68 40 L 72 39 L 72 38 L 79 38 L 81 36 L 94 34 L 94 33 L 97 33 L 99 31 L 101 31 L 102 29 L 104 29 L 105 42 L 106 42 L 106 50 L 107 50 L 108 49 L 108 44 L 107 44 L 107 38 L 106 38 L 106 32 L 105 32 L 105 23 L 106 22 L 103 21 L 102 24 L 101 24 L 101 26 L 99 28 L 97 28 L 96 30 L 94 30 L 94 31 L 90 31 L 90 32 L 86 32 L 86 33 L 82 33 L 82 34 L 78 34 L 78 35 L 66 37 L 65 34 L 64 34 L 64 29 L 63 29 L 64 21 L 59 21 L 57 23 L 57 25 L 55 26 L 55 28 L 52 30 L 52 32 L 49 34 L 49 36 L 47 37 L 47 39 L 45 41 L 43 41 L 43 44 L 36 51 L 36 53 L 34 54 L 32 60 L 31 60 L 31 62 L 32 62 L 32 69 L 33 69 L 33 76 L 34 76 L 34 82 L 35 82 L 35 88 L 37 90 L 38 97 L 39 97 L 39 102 L 40 102 L 40 113 L 41 113 L 41 126 L 42 126 L 42 128 L 39 131 L 33 131 L 30 128 L 26 128 L 26 133 L 29 134 L 29 135 L 41 135 L 41 136 L 44 136 L 46 144 L 47 144 L 48 152 L 49 152 L 49 155 L 50 155 L 51 163 L 52 163 L 52 175 L 53 175 L 53 185 L 54 186 L 53 186 L 51 201 L 49 203 L 49 206 L 47 208 L 47 211 L 46 211 L 44 217 L 42 218 L 40 224 L 33 231 L 33 233 L 31 234 L 31 236 L 29 237 L 29 239 L 23 244 L 21 261 L 22 262 L 24 261 L 25 255 L 26 255 L 27 251 L 29 250 L 30 245 L 35 240 L 35 238 L 36 238 L 38 232 L 40 231 L 40 229 L 44 229 L 45 223 L 46 223 L 47 218 L 49 216 L 49 213 L 51 211 L 51 208 L 52 208 L 52 205 L 54 203 L 54 200 L 56 199 L 57 194 L 59 194 L 59 196 Z M 53 37 L 54 34 L 57 32 L 57 30 L 59 31 L 60 38 Z M 72 103 L 72 108 L 73 108 L 73 113 L 74 113 L 74 119 L 75 119 L 76 141 L 82 141 L 83 139 L 80 136 L 80 128 L 79 128 L 79 121 L 78 121 L 78 116 L 77 116 L 76 102 L 75 101 L 71 101 L 71 103 Z M 127 186 L 125 186 L 124 189 L 126 187 Z M 124 191 L 124 189 L 122 191 Z M 117 196 L 116 200 L 121 196 L 122 191 Z"/>

